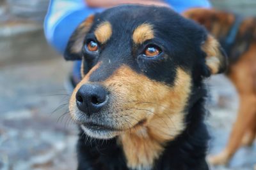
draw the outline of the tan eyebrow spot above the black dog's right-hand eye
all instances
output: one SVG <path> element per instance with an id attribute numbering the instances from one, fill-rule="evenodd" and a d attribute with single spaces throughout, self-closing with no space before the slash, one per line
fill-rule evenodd
<path id="1" fill-rule="evenodd" d="M 142 44 L 148 39 L 154 38 L 153 27 L 150 24 L 141 24 L 139 25 L 132 34 L 132 39 L 136 44 Z"/>

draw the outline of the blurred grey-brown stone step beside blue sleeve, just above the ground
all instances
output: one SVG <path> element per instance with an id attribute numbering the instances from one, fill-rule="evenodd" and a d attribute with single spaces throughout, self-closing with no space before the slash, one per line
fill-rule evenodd
<path id="1" fill-rule="evenodd" d="M 47 44 L 40 24 L 0 24 L 0 67 L 6 64 L 52 59 L 56 53 Z"/>

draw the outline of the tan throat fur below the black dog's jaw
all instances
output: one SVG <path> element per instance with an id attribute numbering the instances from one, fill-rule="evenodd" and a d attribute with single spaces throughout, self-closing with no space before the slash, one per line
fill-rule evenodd
<path id="1" fill-rule="evenodd" d="M 118 137 L 131 169 L 151 169 L 168 141 L 184 130 L 184 113 L 158 115 L 148 125 L 131 129 Z"/>

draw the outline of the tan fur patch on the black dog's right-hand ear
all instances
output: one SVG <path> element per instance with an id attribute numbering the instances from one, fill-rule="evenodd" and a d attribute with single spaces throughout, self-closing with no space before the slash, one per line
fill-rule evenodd
<path id="1" fill-rule="evenodd" d="M 212 74 L 217 74 L 220 70 L 222 54 L 220 53 L 220 44 L 212 36 L 208 36 L 202 50 L 207 54 L 205 59 L 206 65 L 211 69 Z"/>

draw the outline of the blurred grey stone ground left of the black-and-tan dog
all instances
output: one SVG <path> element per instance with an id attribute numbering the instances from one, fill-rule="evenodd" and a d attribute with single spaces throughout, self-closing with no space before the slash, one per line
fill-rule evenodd
<path id="1" fill-rule="evenodd" d="M 1 67 L 0 169 L 76 169 L 76 125 L 56 110 L 69 69 L 61 57 Z"/>

